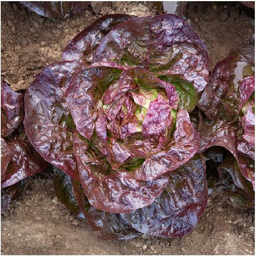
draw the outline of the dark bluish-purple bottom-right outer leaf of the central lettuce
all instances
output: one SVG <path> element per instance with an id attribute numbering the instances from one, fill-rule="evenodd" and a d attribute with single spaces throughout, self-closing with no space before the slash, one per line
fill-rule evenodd
<path id="1" fill-rule="evenodd" d="M 171 172 L 162 194 L 146 207 L 121 214 L 138 231 L 161 237 L 191 232 L 208 199 L 205 162 L 199 155 Z"/>

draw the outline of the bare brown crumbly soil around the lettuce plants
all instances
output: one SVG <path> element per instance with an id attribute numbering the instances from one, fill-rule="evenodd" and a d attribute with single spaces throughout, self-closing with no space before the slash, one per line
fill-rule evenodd
<path id="1" fill-rule="evenodd" d="M 157 14 L 149 2 L 101 2 L 66 20 L 39 16 L 19 2 L 1 2 L 1 80 L 14 90 L 28 88 L 47 65 L 61 60 L 66 44 L 84 27 L 109 13 Z M 184 18 L 204 40 L 210 70 L 254 33 L 254 19 L 239 2 L 190 2 Z M 195 230 L 183 238 L 139 236 L 101 241 L 85 220 L 58 202 L 52 173 L 28 181 L 22 196 L 1 215 L 2 254 L 255 254 L 254 208 L 236 209 L 225 198 L 210 196 Z"/>

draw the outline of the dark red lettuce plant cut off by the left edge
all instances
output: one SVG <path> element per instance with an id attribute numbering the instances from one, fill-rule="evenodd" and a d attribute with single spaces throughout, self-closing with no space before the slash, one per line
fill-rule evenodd
<path id="1" fill-rule="evenodd" d="M 33 149 L 23 126 L 24 94 L 1 83 L 1 210 L 22 192 L 27 177 L 48 163 Z"/>

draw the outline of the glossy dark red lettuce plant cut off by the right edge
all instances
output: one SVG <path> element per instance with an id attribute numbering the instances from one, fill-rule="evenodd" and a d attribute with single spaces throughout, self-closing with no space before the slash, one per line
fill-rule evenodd
<path id="1" fill-rule="evenodd" d="M 248 208 L 255 186 L 254 39 L 233 50 L 213 69 L 198 103 L 199 152 L 221 146 L 227 153 L 218 167 L 229 202 Z M 232 154 L 231 154 L 232 153 Z"/>

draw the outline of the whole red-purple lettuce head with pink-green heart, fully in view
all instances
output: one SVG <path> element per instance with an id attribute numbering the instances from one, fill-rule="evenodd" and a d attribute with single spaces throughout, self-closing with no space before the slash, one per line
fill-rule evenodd
<path id="1" fill-rule="evenodd" d="M 24 126 L 56 166 L 60 201 L 101 239 L 181 237 L 207 204 L 188 112 L 208 82 L 206 47 L 164 14 L 107 15 L 75 36 L 25 95 Z"/>

